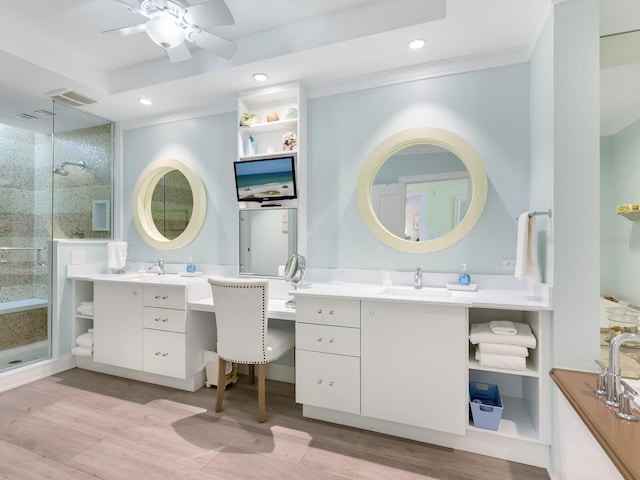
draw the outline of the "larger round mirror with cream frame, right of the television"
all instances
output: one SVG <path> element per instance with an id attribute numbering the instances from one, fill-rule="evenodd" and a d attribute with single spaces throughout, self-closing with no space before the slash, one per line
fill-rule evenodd
<path id="1" fill-rule="evenodd" d="M 383 243 L 429 253 L 460 241 L 474 227 L 488 182 L 476 151 L 439 128 L 401 131 L 380 143 L 358 180 L 358 209 Z"/>

